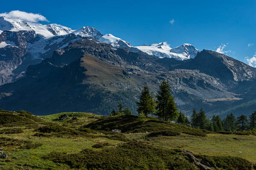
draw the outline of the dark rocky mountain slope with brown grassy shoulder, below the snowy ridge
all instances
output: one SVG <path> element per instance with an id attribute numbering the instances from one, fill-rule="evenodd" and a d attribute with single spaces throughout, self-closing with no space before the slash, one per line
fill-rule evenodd
<path id="1" fill-rule="evenodd" d="M 247 93 L 256 82 L 255 73 L 255 68 L 214 51 L 203 50 L 182 61 L 115 49 L 84 37 L 29 66 L 26 77 L 0 86 L 0 106 L 37 114 L 75 109 L 108 115 L 123 103 L 136 113 L 141 88 L 148 85 L 156 93 L 166 79 L 184 113 L 203 107 L 209 114 L 222 114 L 252 100 Z"/>

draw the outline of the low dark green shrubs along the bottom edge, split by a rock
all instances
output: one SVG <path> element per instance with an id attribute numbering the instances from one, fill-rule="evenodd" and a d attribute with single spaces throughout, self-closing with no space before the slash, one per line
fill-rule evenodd
<path id="1" fill-rule="evenodd" d="M 103 145 L 103 144 L 102 144 Z M 141 142 L 128 142 L 101 150 L 85 149 L 79 153 L 52 152 L 44 159 L 86 170 L 199 170 L 181 150 L 161 149 Z M 208 162 L 212 169 L 252 170 L 252 164 L 231 156 L 196 155 L 201 162 Z"/>

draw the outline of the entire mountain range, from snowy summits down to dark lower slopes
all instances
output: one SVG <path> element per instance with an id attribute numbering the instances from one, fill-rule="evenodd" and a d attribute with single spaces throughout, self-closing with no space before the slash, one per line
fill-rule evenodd
<path id="1" fill-rule="evenodd" d="M 136 113 L 138 94 L 163 79 L 180 111 L 250 114 L 256 68 L 184 43 L 133 46 L 96 28 L 72 30 L 0 17 L 0 107 L 37 114 L 108 115 L 119 103 Z"/>

